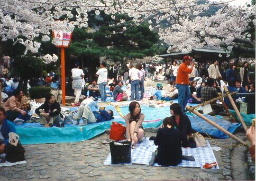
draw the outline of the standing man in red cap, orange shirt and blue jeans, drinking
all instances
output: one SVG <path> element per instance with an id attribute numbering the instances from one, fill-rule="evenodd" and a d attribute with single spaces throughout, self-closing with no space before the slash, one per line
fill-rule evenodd
<path id="1" fill-rule="evenodd" d="M 191 62 L 192 60 L 193 58 L 188 55 L 183 57 L 183 63 L 179 66 L 176 78 L 176 87 L 179 92 L 178 103 L 181 106 L 183 112 L 185 112 L 188 99 L 190 98 L 188 74 L 192 72 L 195 65 L 194 62 Z M 188 65 L 190 65 L 189 68 Z"/>

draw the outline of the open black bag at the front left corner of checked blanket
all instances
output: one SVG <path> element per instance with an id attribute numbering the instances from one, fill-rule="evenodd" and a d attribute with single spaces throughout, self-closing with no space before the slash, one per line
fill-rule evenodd
<path id="1" fill-rule="evenodd" d="M 131 163 L 132 142 L 109 143 L 111 153 L 111 164 Z"/>

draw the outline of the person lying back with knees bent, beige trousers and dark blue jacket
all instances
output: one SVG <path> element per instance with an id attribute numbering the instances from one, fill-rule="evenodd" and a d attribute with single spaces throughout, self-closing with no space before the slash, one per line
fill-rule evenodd
<path id="1" fill-rule="evenodd" d="M 78 125 L 80 119 L 83 119 L 83 123 L 79 126 L 87 125 L 87 123 L 98 123 L 105 122 L 107 120 L 113 119 L 114 113 L 113 110 L 99 109 L 97 103 L 93 100 L 92 97 L 83 100 L 81 103 L 78 112 L 75 116 L 75 123 L 73 125 Z"/>

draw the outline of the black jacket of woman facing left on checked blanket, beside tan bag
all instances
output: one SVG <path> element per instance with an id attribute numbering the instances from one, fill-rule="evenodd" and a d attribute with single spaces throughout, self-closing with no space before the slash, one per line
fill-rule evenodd
<path id="1" fill-rule="evenodd" d="M 171 116 L 171 118 L 175 120 L 175 116 Z M 192 127 L 191 127 L 191 123 L 188 116 L 182 113 L 180 115 L 179 126 L 177 125 L 176 121 L 175 121 L 175 126 L 182 133 L 182 147 L 185 147 L 185 148 L 189 147 L 190 145 L 187 140 L 187 135 L 190 135 L 192 133 Z"/>

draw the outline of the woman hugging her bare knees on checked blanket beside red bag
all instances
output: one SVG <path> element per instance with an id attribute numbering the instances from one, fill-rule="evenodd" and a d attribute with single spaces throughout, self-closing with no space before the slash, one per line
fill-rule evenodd
<path id="1" fill-rule="evenodd" d="M 144 130 L 142 127 L 142 122 L 144 120 L 144 114 L 141 113 L 140 104 L 133 101 L 129 105 L 130 113 L 126 114 L 125 124 L 126 124 L 126 138 L 132 141 L 132 145 L 135 146 L 138 141 L 141 142 L 144 138 Z"/>

